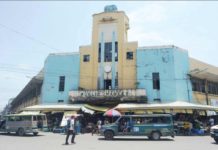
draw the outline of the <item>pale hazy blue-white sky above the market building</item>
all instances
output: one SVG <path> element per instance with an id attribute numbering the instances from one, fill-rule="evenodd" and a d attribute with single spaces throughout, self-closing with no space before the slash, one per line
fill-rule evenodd
<path id="1" fill-rule="evenodd" d="M 129 41 L 173 44 L 218 66 L 218 2 L 0 2 L 0 110 L 49 53 L 91 43 L 92 14 L 115 4 L 130 19 Z"/>

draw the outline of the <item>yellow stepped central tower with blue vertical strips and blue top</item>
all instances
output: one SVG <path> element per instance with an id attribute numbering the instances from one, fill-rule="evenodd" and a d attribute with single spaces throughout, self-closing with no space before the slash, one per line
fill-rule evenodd
<path id="1" fill-rule="evenodd" d="M 129 43 L 129 19 L 115 5 L 93 15 L 92 44 L 80 47 L 80 88 L 135 89 L 137 42 Z"/>

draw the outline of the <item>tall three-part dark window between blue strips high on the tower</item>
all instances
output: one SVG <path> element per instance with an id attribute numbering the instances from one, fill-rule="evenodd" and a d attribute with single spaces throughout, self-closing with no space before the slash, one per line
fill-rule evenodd
<path id="1" fill-rule="evenodd" d="M 112 61 L 112 42 L 104 44 L 104 62 Z M 118 43 L 115 42 L 115 61 L 118 61 Z M 101 62 L 101 43 L 98 44 L 98 62 Z"/>

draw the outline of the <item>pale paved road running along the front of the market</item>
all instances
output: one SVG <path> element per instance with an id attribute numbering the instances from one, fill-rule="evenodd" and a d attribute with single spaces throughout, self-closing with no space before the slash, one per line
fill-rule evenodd
<path id="1" fill-rule="evenodd" d="M 105 141 L 97 135 L 76 136 L 76 144 L 64 145 L 65 135 L 42 132 L 38 136 L 0 134 L 0 150 L 218 150 L 209 136 L 177 136 L 150 141 L 142 137 L 118 137 Z"/>

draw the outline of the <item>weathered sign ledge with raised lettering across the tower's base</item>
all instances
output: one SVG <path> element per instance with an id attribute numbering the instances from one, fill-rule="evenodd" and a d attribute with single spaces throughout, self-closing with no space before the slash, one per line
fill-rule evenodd
<path id="1" fill-rule="evenodd" d="M 86 100 L 124 100 L 137 99 L 138 97 L 145 97 L 144 89 L 125 89 L 125 90 L 81 90 L 70 91 L 69 93 L 72 101 L 86 101 Z"/>

